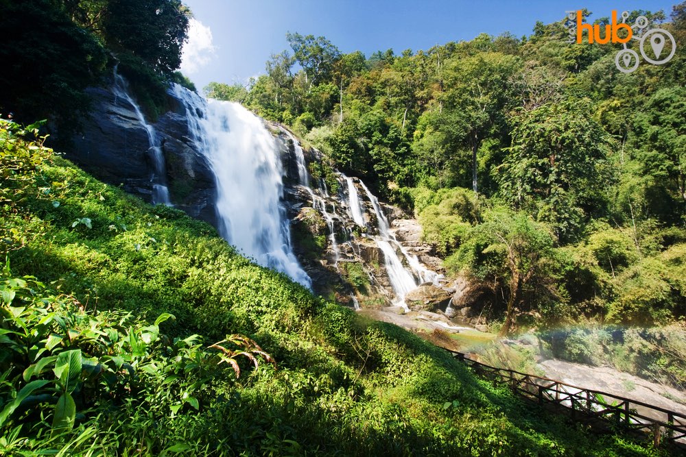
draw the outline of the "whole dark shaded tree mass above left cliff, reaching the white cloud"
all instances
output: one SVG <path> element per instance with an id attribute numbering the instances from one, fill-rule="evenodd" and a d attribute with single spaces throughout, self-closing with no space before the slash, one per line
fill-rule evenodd
<path id="1" fill-rule="evenodd" d="M 104 84 L 108 54 L 153 119 L 165 108 L 167 82 L 184 81 L 174 74 L 190 14 L 180 0 L 2 1 L 0 8 L 0 58 L 8 62 L 0 84 L 12 88 L 0 95 L 0 112 L 54 121 L 62 145 L 88 114 L 86 87 Z M 25 71 L 36 62 L 40 71 Z"/>

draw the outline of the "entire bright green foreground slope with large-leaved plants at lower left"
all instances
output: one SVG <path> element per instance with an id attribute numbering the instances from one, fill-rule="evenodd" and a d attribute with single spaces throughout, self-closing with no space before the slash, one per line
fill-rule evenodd
<path id="1" fill-rule="evenodd" d="M 521 403 L 36 133 L 0 121 L 1 454 L 664 452 Z"/>

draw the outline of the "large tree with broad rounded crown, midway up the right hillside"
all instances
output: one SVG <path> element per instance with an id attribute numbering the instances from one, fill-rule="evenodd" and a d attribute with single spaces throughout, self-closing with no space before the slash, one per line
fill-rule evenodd
<path id="1" fill-rule="evenodd" d="M 612 182 L 611 138 L 591 119 L 589 100 L 547 103 L 516 120 L 512 147 L 498 168 L 499 193 L 514 208 L 573 235 L 584 217 L 603 208 Z"/>

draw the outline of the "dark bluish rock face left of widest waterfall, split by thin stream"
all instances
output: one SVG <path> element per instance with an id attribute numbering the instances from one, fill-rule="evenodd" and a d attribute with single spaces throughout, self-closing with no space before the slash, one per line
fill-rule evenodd
<path id="1" fill-rule="evenodd" d="M 95 177 L 152 201 L 154 163 L 147 131 L 134 106 L 108 88 L 90 88 L 92 110 L 82 120 L 82 134 L 73 138 L 65 157 Z M 214 175 L 193 145 L 185 111 L 171 92 L 175 109 L 152 126 L 166 162 L 172 203 L 193 217 L 216 225 Z"/>

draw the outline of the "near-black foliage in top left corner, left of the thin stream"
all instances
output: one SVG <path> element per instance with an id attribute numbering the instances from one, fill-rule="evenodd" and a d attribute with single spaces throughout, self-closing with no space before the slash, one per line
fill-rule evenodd
<path id="1" fill-rule="evenodd" d="M 68 134 L 88 111 L 84 89 L 99 82 L 106 51 L 59 3 L 0 1 L 0 112 L 14 112 L 23 123 L 50 117 Z M 36 65 L 40 69 L 27 71 Z"/>

